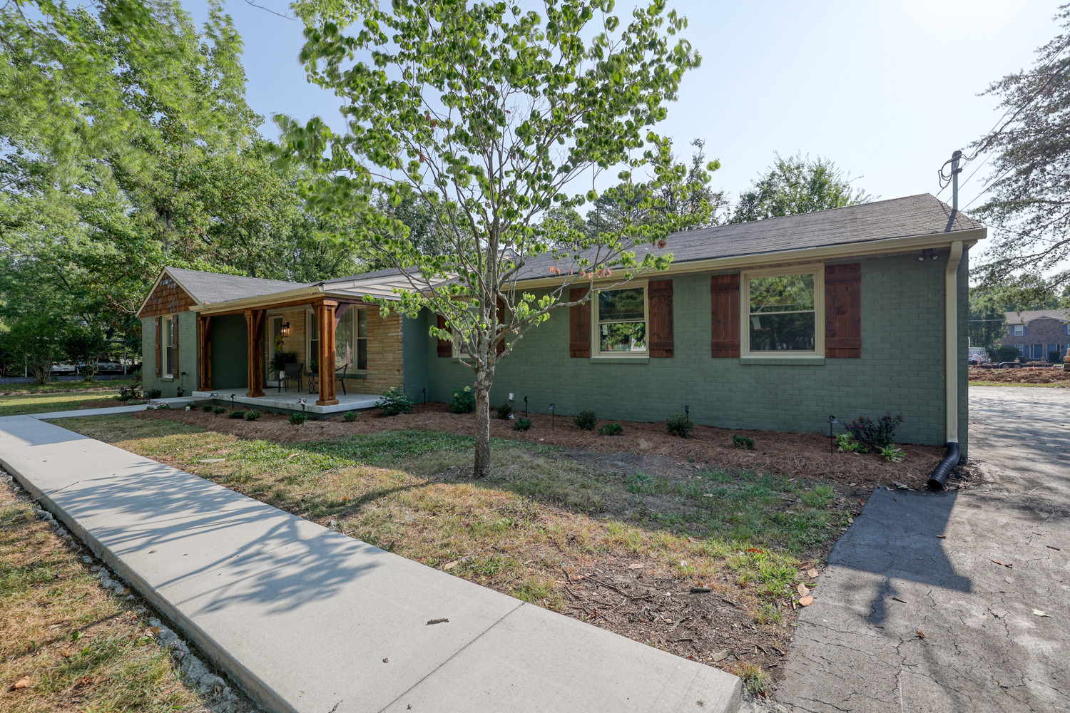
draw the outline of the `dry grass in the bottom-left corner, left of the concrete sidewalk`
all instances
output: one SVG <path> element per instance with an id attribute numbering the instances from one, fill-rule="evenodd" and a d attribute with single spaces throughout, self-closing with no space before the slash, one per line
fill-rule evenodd
<path id="1" fill-rule="evenodd" d="M 28 687 L 12 689 L 29 677 Z M 0 483 L 0 710 L 208 711 L 133 603 Z"/>

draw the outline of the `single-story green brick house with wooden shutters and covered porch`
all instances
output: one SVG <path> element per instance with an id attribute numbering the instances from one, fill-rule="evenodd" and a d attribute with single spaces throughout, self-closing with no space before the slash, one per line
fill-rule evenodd
<path id="1" fill-rule="evenodd" d="M 827 432 L 830 415 L 901 412 L 898 440 L 958 440 L 964 453 L 966 255 L 984 236 L 930 195 L 675 234 L 668 270 L 559 309 L 515 344 L 492 403 L 514 393 L 517 409 L 526 397 L 533 412 L 554 403 L 559 415 L 637 421 L 686 406 L 698 423 L 804 432 Z M 518 286 L 560 284 L 551 266 L 567 273 L 538 257 Z M 398 270 L 297 284 L 165 269 L 139 313 L 144 385 L 172 396 L 185 372 L 187 393 L 299 409 L 292 390 L 264 394 L 285 331 L 306 367 L 317 358 L 358 377 L 342 397 L 321 369 L 309 412 L 370 405 L 354 394 L 389 386 L 448 401 L 472 372 L 429 335 L 435 315 L 382 317 L 364 304 L 396 288 L 408 288 Z"/>

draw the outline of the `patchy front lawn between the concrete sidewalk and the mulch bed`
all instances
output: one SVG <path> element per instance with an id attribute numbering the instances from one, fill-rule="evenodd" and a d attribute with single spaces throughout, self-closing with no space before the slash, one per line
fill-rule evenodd
<path id="1" fill-rule="evenodd" d="M 829 485 L 624 476 L 508 440 L 492 441 L 492 475 L 473 481 L 472 438 L 439 432 L 278 444 L 125 415 L 60 425 L 554 609 L 564 570 L 628 558 L 694 586 L 731 583 L 754 621 L 776 624 L 799 563 L 821 558 L 850 516 Z"/>

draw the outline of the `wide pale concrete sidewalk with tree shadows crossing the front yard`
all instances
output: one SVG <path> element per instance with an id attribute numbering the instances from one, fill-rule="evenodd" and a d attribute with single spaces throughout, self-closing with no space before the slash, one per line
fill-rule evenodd
<path id="1" fill-rule="evenodd" d="M 0 465 L 273 711 L 738 708 L 723 671 L 35 418 L 0 418 Z"/>

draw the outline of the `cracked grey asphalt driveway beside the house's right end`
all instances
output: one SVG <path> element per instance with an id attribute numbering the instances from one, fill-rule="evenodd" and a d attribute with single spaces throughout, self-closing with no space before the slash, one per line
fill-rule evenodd
<path id="1" fill-rule="evenodd" d="M 786 710 L 1070 711 L 1070 389 L 969 407 L 982 482 L 870 497 L 799 617 Z"/>

